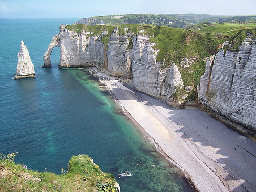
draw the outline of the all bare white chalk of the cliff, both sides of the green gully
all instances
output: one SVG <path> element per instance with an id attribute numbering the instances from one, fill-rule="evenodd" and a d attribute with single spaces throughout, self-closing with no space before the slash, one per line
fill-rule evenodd
<path id="1" fill-rule="evenodd" d="M 51 51 L 59 46 L 59 68 L 95 66 L 112 76 L 132 77 L 137 90 L 170 105 L 183 106 L 187 93 L 193 88 L 184 88 L 181 73 L 174 63 L 170 63 L 172 65 L 168 68 L 161 67 L 164 63 L 156 61 L 159 50 L 154 48 L 154 43 L 149 41 L 150 36 L 144 30 L 133 34 L 131 30 L 124 29 L 120 33 L 116 27 L 111 34 L 108 33 L 103 31 L 99 36 L 92 36 L 89 31 L 81 30 L 77 34 L 74 30 L 68 30 L 66 25 L 61 25 L 60 33 L 53 37 L 44 55 L 43 67 L 51 66 Z M 108 44 L 102 42 L 106 35 L 110 35 Z M 131 39 L 132 46 L 129 46 Z M 227 51 L 225 57 L 224 52 L 219 51 L 207 61 L 197 88 L 198 100 L 210 110 L 241 125 L 240 131 L 255 133 L 255 40 L 246 39 L 239 49 L 238 53 Z M 186 66 L 193 61 L 187 58 L 183 60 Z M 173 94 L 179 90 L 182 90 L 179 97 L 174 97 Z"/>

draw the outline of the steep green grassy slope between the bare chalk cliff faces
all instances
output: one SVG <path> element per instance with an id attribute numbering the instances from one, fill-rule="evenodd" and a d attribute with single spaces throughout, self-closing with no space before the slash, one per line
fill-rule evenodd
<path id="1" fill-rule="evenodd" d="M 196 87 L 201 75 L 205 71 L 205 58 L 218 52 L 218 47 L 225 39 L 218 35 L 198 34 L 169 27 L 155 27 L 156 33 L 150 39 L 159 49 L 157 62 L 163 62 L 162 68 L 175 63 L 182 75 L 184 86 Z M 182 67 L 183 58 L 193 60 L 189 67 Z"/>

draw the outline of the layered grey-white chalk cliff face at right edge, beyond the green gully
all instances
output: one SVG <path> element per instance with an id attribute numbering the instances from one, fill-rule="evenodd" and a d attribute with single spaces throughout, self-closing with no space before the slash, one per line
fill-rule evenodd
<path id="1" fill-rule="evenodd" d="M 255 131 L 256 45 L 246 38 L 239 52 L 219 51 L 207 61 L 198 99 L 218 114 Z"/>

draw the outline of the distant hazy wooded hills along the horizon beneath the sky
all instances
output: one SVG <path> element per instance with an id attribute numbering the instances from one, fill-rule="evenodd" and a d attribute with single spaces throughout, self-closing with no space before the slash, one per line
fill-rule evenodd
<path id="1" fill-rule="evenodd" d="M 96 16 L 87 19 L 93 20 L 91 25 L 154 24 L 155 26 L 185 28 L 191 24 L 212 21 L 217 23 L 255 22 L 256 16 L 213 16 L 208 14 L 126 14 Z"/>

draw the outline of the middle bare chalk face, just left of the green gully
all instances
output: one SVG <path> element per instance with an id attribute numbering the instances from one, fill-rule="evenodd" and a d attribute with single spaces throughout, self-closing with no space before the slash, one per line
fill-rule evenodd
<path id="1" fill-rule="evenodd" d="M 183 87 L 179 69 L 175 64 L 161 68 L 162 63 L 156 62 L 159 50 L 153 48 L 154 44 L 148 42 L 149 37 L 143 33 L 141 30 L 133 37 L 133 85 L 139 91 L 177 106 L 179 102 L 174 101 L 172 94 L 176 86 Z"/>

